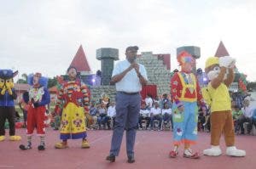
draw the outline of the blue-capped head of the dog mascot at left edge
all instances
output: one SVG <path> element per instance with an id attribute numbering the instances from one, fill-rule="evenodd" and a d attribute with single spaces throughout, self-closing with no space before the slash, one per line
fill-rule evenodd
<path id="1" fill-rule="evenodd" d="M 0 70 L 0 88 L 13 88 L 15 87 L 14 77 L 18 75 L 18 71 L 13 70 Z"/>

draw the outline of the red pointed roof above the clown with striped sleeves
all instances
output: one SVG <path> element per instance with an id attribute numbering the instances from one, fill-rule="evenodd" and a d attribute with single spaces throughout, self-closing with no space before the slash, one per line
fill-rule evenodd
<path id="1" fill-rule="evenodd" d="M 90 71 L 90 65 L 88 64 L 82 45 L 80 45 L 79 50 L 74 56 L 70 66 L 74 66 L 79 72 Z"/>

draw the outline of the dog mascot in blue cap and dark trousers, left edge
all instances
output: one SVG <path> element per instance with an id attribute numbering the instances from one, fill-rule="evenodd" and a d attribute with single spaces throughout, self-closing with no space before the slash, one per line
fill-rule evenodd
<path id="1" fill-rule="evenodd" d="M 9 140 L 18 141 L 20 136 L 15 136 L 15 84 L 13 77 L 18 71 L 0 70 L 0 141 L 5 139 L 4 124 L 9 121 Z"/>

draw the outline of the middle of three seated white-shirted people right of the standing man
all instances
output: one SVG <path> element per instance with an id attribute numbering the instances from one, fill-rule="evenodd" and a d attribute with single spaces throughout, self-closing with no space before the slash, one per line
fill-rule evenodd
<path id="1" fill-rule="evenodd" d="M 151 108 L 151 110 L 150 110 L 150 126 L 151 126 L 152 129 L 154 128 L 154 124 L 153 124 L 154 120 L 159 121 L 158 127 L 159 127 L 159 130 L 160 130 L 162 117 L 161 117 L 161 109 L 160 109 L 158 103 L 154 103 L 154 107 Z"/>

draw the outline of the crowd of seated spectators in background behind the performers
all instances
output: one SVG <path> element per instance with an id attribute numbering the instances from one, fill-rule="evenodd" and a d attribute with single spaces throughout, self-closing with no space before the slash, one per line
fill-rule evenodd
<path id="1" fill-rule="evenodd" d="M 141 101 L 141 110 L 139 112 L 137 125 L 138 130 L 173 130 L 172 97 L 170 94 L 164 93 L 157 98 L 158 99 L 153 99 L 148 93 L 146 99 Z M 250 134 L 253 125 L 256 127 L 256 105 L 251 104 L 251 99 L 250 96 L 244 98 L 241 106 L 236 104 L 236 100 L 231 101 L 236 134 Z M 116 115 L 115 102 L 112 101 L 106 103 L 101 100 L 97 102 L 91 101 L 89 113 L 91 122 L 87 123 L 88 129 L 113 129 Z M 197 123 L 198 131 L 211 131 L 210 114 L 210 110 L 207 106 L 199 106 Z M 26 117 L 26 115 L 24 117 Z M 60 116 L 56 115 L 52 127 L 54 127 L 55 130 L 58 130 L 59 126 Z"/>

